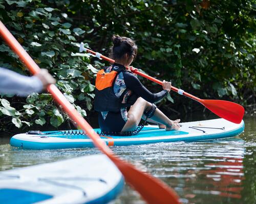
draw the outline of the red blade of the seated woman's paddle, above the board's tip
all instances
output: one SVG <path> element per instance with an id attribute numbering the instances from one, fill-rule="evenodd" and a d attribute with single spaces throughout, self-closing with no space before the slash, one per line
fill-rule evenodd
<path id="1" fill-rule="evenodd" d="M 230 122 L 239 124 L 244 117 L 244 107 L 231 101 L 200 99 L 199 102 L 212 113 Z"/>

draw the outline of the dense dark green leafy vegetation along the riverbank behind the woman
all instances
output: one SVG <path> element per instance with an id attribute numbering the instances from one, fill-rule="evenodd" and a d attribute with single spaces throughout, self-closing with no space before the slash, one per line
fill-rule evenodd
<path id="1" fill-rule="evenodd" d="M 96 116 L 95 73 L 108 63 L 80 54 L 77 45 L 88 43 L 96 52 L 108 55 L 113 34 L 136 40 L 139 50 L 133 66 L 200 98 L 234 101 L 245 107 L 246 114 L 253 114 L 253 2 L 0 0 L 0 20 L 36 63 L 57 79 L 58 88 L 87 119 Z M 2 39 L 0 56 L 1 67 L 29 74 Z M 151 91 L 161 90 L 141 80 Z M 2 95 L 0 102 L 3 131 L 72 124 L 46 92 L 27 98 Z M 203 106 L 174 92 L 159 106 L 177 115 L 203 110 Z"/>

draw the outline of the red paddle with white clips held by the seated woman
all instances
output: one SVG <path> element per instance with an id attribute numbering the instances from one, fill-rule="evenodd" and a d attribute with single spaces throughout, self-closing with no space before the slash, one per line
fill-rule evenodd
<path id="1" fill-rule="evenodd" d="M 110 63 L 115 62 L 115 60 L 105 57 L 105 56 L 101 55 L 100 53 L 93 52 L 92 50 L 90 50 L 88 48 L 85 48 L 83 46 L 82 42 L 80 44 L 79 51 L 80 51 L 80 53 L 82 51 L 86 51 L 87 53 L 91 53 L 91 54 L 95 55 L 97 58 L 109 61 Z M 162 81 L 157 80 L 145 73 L 142 73 L 142 72 L 138 71 L 138 69 L 136 69 L 136 68 L 132 68 L 131 71 L 136 74 L 141 75 L 141 77 L 144 77 L 148 80 L 156 82 L 157 84 L 160 84 L 160 85 L 163 84 Z M 224 118 L 230 122 L 239 124 L 243 119 L 244 107 L 242 107 L 239 104 L 236 104 L 236 103 L 233 103 L 233 102 L 227 101 L 227 100 L 201 99 L 201 98 L 198 98 L 194 95 L 191 95 L 191 94 L 183 91 L 182 89 L 177 89 L 174 86 L 172 86 L 172 90 L 176 91 L 177 93 L 179 93 L 181 95 L 187 96 L 193 100 L 198 101 L 200 104 L 204 105 L 207 109 L 209 109 L 212 113 L 215 113 L 216 115 L 218 115 L 221 118 Z"/>

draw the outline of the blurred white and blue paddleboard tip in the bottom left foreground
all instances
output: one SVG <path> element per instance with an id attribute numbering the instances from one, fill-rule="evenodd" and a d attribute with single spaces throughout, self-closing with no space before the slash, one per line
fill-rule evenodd
<path id="1" fill-rule="evenodd" d="M 0 203 L 107 203 L 123 188 L 105 155 L 0 171 Z"/>

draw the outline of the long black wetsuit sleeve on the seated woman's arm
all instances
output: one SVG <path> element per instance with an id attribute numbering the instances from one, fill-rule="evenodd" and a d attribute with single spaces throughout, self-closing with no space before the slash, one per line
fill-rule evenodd
<path id="1" fill-rule="evenodd" d="M 126 87 L 133 91 L 138 96 L 142 97 L 150 103 L 155 103 L 156 101 L 165 97 L 168 93 L 166 90 L 162 90 L 158 93 L 152 93 L 148 91 L 139 81 L 135 75 L 127 71 L 123 72 L 123 79 Z"/>

